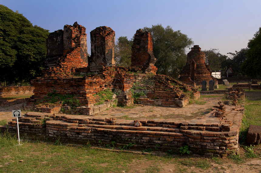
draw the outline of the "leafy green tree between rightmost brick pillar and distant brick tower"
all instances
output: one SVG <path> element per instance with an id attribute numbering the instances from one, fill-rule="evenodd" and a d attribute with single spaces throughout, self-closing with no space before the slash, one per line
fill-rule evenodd
<path id="1" fill-rule="evenodd" d="M 185 49 L 194 43 L 192 39 L 180 30 L 174 31 L 171 26 L 164 28 L 161 24 L 144 27 L 143 30 L 149 31 L 152 36 L 157 73 L 168 75 L 174 72 L 175 76 L 178 76 L 186 64 Z"/>

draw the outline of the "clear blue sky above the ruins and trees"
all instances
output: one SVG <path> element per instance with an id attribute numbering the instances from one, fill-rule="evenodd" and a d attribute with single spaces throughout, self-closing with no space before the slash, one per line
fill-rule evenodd
<path id="1" fill-rule="evenodd" d="M 88 53 L 90 31 L 111 27 L 131 39 L 136 30 L 170 25 L 192 38 L 202 50 L 221 54 L 247 47 L 261 27 L 261 0 L 0 0 L 18 10 L 33 25 L 53 32 L 75 21 L 86 27 Z"/>

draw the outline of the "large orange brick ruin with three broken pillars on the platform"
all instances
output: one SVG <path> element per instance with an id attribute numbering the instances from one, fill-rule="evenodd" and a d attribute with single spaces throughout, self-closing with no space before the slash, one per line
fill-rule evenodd
<path id="1" fill-rule="evenodd" d="M 147 93 L 147 98 L 139 101 L 144 104 L 157 103 L 156 105 L 183 107 L 188 104 L 189 97 L 184 91 L 192 91 L 187 85 L 178 87 L 170 85 L 170 79 L 155 75 L 157 68 L 154 66 L 156 58 L 153 55 L 152 37 L 149 32 L 141 29 L 136 31 L 131 54 L 131 67 L 114 66 L 115 32 L 110 27 L 97 27 L 90 32 L 91 56 L 88 56 L 86 45 L 85 27 L 75 22 L 73 26 L 65 25 L 64 30 L 58 30 L 49 34 L 47 39 L 46 68 L 43 75 L 31 81 L 35 87 L 34 95 L 28 99 L 27 105 L 34 106 L 38 101 L 50 99 L 49 93 L 60 95 L 73 95 L 80 101 L 77 112 L 85 115 L 94 114 L 100 99 L 97 92 L 109 89 L 118 90 L 119 105 L 133 104 L 131 88 L 137 76 L 135 73 L 147 73 L 155 81 L 153 96 Z M 154 76 L 155 75 L 155 76 Z M 160 80 L 158 80 L 161 78 Z M 174 79 L 171 79 L 174 80 Z M 158 87 L 158 88 L 157 88 Z M 162 88 L 164 87 L 164 90 Z M 195 98 L 199 98 L 199 92 L 193 90 Z M 164 98 L 164 96 L 169 95 Z M 193 96 L 194 97 L 194 96 Z M 146 101 L 146 99 L 149 99 Z M 160 104 L 160 103 L 163 104 Z M 168 103 L 169 102 L 169 103 Z M 106 105 L 109 105 L 107 103 Z M 58 105 L 58 107 L 61 105 Z M 57 106 L 49 107 L 48 112 L 56 112 Z M 103 106 L 100 111 L 108 106 Z M 43 111 L 48 106 L 39 108 Z M 80 111 L 80 112 L 79 112 Z"/>

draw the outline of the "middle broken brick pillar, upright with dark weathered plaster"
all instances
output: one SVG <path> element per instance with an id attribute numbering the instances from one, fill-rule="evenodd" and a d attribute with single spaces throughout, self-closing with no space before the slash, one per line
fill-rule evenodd
<path id="1" fill-rule="evenodd" d="M 90 32 L 90 66 L 114 66 L 115 32 L 110 27 L 102 26 Z"/>

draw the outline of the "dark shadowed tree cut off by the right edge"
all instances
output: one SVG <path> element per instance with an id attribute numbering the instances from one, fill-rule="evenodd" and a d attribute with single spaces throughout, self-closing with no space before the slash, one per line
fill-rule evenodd
<path id="1" fill-rule="evenodd" d="M 261 75 L 261 27 L 247 44 L 247 58 L 241 66 L 241 71 L 251 77 Z"/>

